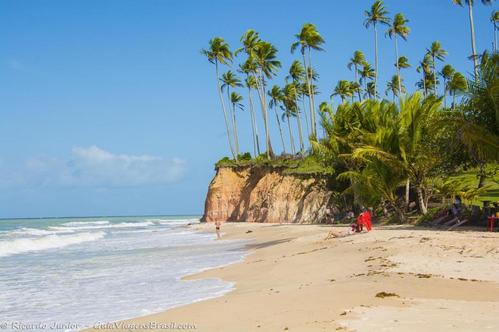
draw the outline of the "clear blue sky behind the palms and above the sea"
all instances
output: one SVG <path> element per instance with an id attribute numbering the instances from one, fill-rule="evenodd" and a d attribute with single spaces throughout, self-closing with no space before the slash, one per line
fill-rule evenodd
<path id="1" fill-rule="evenodd" d="M 313 23 L 326 40 L 326 51 L 312 55 L 320 74 L 316 104 L 329 102 L 338 80 L 355 79 L 346 67 L 355 50 L 374 63 L 374 32 L 363 26 L 372 2 L 315 1 L 306 10 L 290 0 L 1 0 L 0 218 L 202 214 L 214 163 L 230 150 L 215 68 L 200 49 L 219 36 L 234 50 L 244 31 L 257 30 L 279 49 L 283 68 L 270 85 L 281 86 L 300 59 L 290 53 L 294 35 Z M 450 53 L 445 63 L 472 70 L 466 8 L 451 0 L 385 3 L 392 17 L 410 20 L 409 41 L 399 40 L 399 56 L 413 65 L 402 70 L 410 92 L 420 79 L 416 64 L 434 40 Z M 492 47 L 489 17 L 498 5 L 476 3 L 482 52 Z M 378 34 L 382 95 L 396 71 L 385 30 Z M 253 151 L 249 111 L 238 111 L 237 121 L 241 150 Z M 280 152 L 275 113 L 269 122 Z"/>

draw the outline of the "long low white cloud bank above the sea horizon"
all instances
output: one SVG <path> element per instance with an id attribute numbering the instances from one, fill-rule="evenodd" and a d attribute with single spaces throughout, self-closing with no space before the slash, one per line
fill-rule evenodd
<path id="1" fill-rule="evenodd" d="M 187 163 L 174 157 L 113 154 L 93 145 L 74 147 L 67 160 L 41 155 L 3 173 L 2 187 L 94 187 L 161 185 L 180 180 Z"/>

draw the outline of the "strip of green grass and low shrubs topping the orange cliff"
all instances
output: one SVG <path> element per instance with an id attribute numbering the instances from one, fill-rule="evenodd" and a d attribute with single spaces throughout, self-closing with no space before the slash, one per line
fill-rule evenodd
<path id="1" fill-rule="evenodd" d="M 265 153 L 252 158 L 249 152 L 240 154 L 238 161 L 223 157 L 215 163 L 215 167 L 282 167 L 285 168 L 284 174 L 297 175 L 333 175 L 334 169 L 324 165 L 322 162 L 313 157 L 300 157 L 296 155 L 286 154 L 275 156 L 267 159 Z"/>

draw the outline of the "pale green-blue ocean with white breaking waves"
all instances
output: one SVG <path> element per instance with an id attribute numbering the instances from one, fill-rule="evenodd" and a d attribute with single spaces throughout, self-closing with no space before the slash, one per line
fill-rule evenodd
<path id="1" fill-rule="evenodd" d="M 232 283 L 180 278 L 241 261 L 248 241 L 176 228 L 199 219 L 1 219 L 0 320 L 7 330 L 13 322 L 93 326 L 222 296 Z"/>

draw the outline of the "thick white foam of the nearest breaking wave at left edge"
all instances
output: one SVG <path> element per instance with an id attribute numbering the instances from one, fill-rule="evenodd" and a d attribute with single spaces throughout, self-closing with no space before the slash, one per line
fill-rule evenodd
<path id="1" fill-rule="evenodd" d="M 2 241 L 0 242 L 0 257 L 59 248 L 86 241 L 94 241 L 104 237 L 104 235 L 104 232 L 78 233 L 72 235 L 52 234 L 39 238 L 20 238 L 13 241 Z"/>

